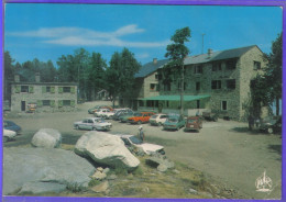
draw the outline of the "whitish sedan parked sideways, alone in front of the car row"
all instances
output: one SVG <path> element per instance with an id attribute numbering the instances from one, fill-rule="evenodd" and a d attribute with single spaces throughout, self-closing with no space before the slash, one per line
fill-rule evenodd
<path id="1" fill-rule="evenodd" d="M 76 130 L 109 131 L 112 124 L 102 117 L 87 117 L 82 121 L 75 122 L 74 127 Z"/>

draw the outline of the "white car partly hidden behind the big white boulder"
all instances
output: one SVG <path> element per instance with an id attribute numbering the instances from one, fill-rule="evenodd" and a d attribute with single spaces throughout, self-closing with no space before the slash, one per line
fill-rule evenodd
<path id="1" fill-rule="evenodd" d="M 127 147 L 134 146 L 136 148 L 141 148 L 146 155 L 151 155 L 152 153 L 160 153 L 162 155 L 165 155 L 164 147 L 161 145 L 143 143 L 134 135 L 120 135 L 120 137 L 124 142 Z"/>

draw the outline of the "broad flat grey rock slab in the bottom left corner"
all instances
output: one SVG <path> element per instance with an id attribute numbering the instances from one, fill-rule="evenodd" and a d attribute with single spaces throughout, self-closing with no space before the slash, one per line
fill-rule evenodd
<path id="1" fill-rule="evenodd" d="M 3 148 L 3 194 L 61 192 L 87 188 L 95 167 L 70 150 Z"/>

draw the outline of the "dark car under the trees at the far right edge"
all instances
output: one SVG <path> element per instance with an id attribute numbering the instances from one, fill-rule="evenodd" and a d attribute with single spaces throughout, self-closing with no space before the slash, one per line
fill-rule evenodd
<path id="1" fill-rule="evenodd" d="M 270 134 L 282 132 L 282 116 L 267 116 L 263 119 L 258 128 Z"/>

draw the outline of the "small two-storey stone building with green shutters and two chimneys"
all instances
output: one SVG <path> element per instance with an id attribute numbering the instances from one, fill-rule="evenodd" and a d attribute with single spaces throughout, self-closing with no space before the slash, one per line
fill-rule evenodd
<path id="1" fill-rule="evenodd" d="M 11 111 L 29 112 L 31 105 L 36 105 L 35 112 L 75 111 L 77 83 L 41 82 L 40 75 L 35 82 L 21 82 L 15 75 L 11 82 Z"/>

